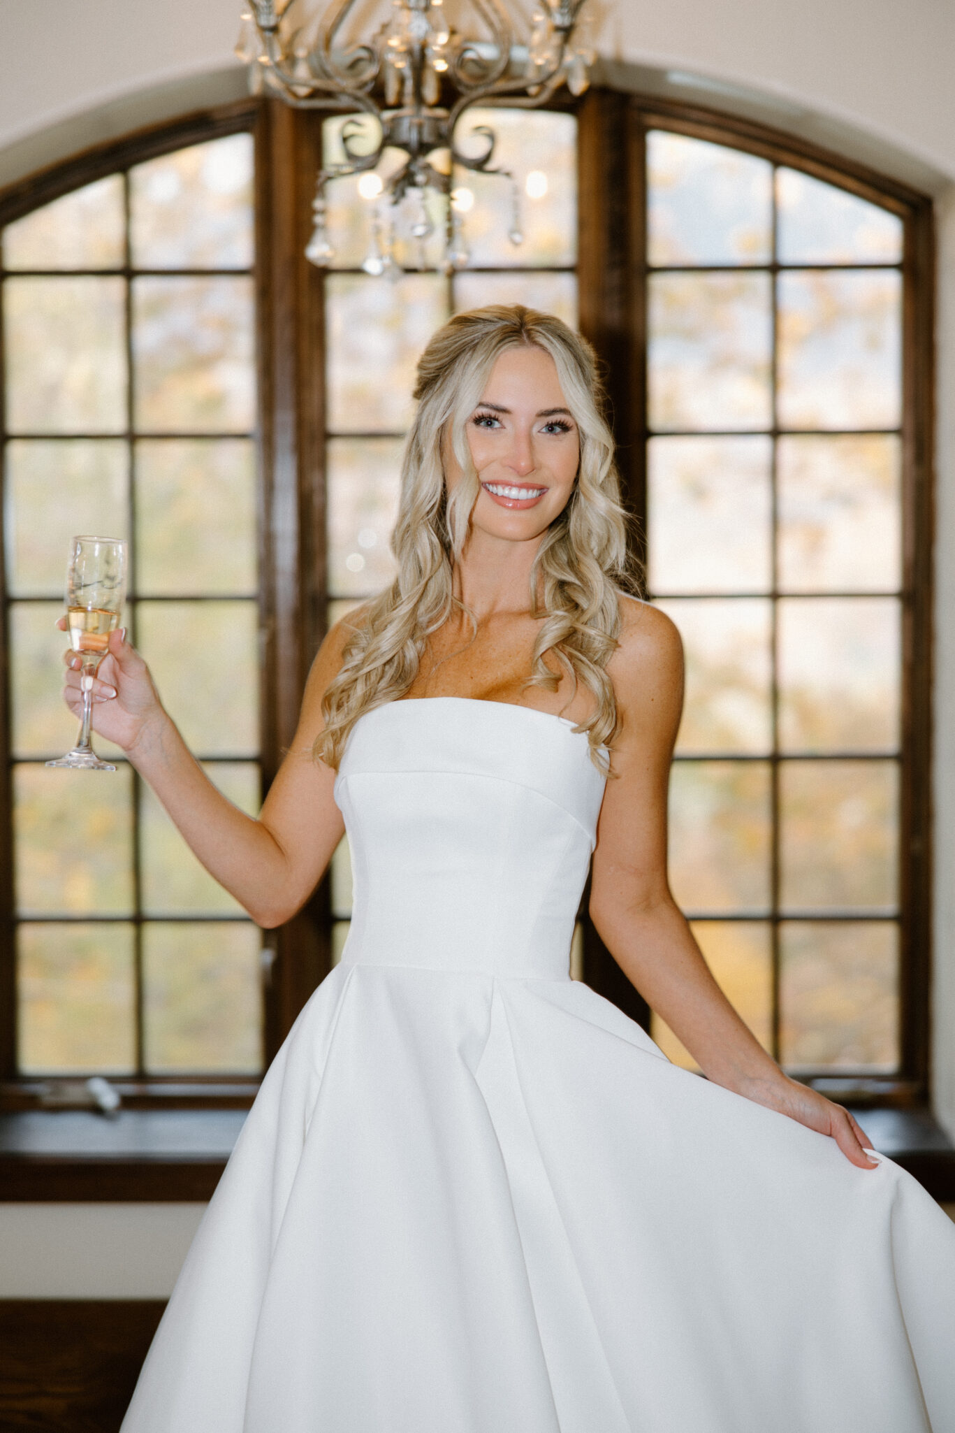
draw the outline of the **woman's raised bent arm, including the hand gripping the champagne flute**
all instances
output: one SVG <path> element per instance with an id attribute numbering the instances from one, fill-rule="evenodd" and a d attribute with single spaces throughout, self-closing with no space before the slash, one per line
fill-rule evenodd
<path id="1" fill-rule="evenodd" d="M 122 747 L 209 874 L 259 926 L 281 926 L 299 910 L 345 830 L 332 795 L 335 772 L 312 758 L 312 744 L 324 725 L 322 695 L 341 666 L 346 636 L 348 629 L 336 623 L 315 658 L 295 739 L 258 820 L 209 781 L 125 632 L 110 633 L 109 655 L 93 686 L 94 731 Z M 64 696 L 79 716 L 80 672 L 72 666 L 72 653 L 66 662 Z"/>

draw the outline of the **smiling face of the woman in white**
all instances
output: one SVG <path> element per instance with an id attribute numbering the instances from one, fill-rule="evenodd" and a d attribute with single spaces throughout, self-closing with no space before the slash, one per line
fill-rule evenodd
<path id="1" fill-rule="evenodd" d="M 465 431 L 481 490 L 471 526 L 493 537 L 540 537 L 570 500 L 580 434 L 560 387 L 557 367 L 541 348 L 507 348 L 494 364 Z M 445 443 L 448 493 L 461 467 Z"/>

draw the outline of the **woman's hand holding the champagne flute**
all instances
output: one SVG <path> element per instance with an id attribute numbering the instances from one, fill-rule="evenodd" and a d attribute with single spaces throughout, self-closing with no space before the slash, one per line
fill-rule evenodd
<path id="1" fill-rule="evenodd" d="M 66 629 L 66 618 L 56 623 Z M 63 698 L 77 721 L 83 716 L 83 672 L 76 652 L 63 655 L 66 679 Z M 86 678 L 89 681 L 89 676 Z M 168 721 L 149 668 L 126 641 L 126 628 L 110 632 L 106 656 L 93 678 L 93 731 L 115 742 L 127 755 L 143 738 Z"/>

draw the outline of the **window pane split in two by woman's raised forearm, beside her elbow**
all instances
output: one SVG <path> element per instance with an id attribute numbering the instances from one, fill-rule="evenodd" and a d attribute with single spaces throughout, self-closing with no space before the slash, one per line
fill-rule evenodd
<path id="1" fill-rule="evenodd" d="M 212 782 L 241 811 L 258 815 L 259 768 L 252 761 L 215 761 Z M 159 800 L 143 782 L 139 804 L 142 903 L 147 916 L 241 914 L 242 907 L 192 854 Z"/>

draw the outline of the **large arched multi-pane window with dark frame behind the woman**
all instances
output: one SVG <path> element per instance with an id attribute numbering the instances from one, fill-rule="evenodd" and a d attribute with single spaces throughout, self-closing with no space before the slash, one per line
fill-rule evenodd
<path id="1" fill-rule="evenodd" d="M 149 152 L 100 156 L 94 175 L 67 166 L 0 208 L 7 1075 L 96 1068 L 198 1092 L 203 1070 L 253 1075 L 256 1022 L 268 1059 L 351 909 L 342 845 L 305 911 L 269 934 L 259 1009 L 258 933 L 132 775 L 37 767 L 69 737 L 52 628 L 67 529 L 127 513 L 137 641 L 213 777 L 252 807 L 255 761 L 268 784 L 326 619 L 391 573 L 418 351 L 455 308 L 520 299 L 578 318 L 607 365 L 649 595 L 687 652 L 672 867 L 717 979 L 805 1078 L 924 1093 L 931 206 L 779 133 L 610 92 L 475 119 L 515 173 L 524 241 L 508 239 L 510 186 L 455 176 L 471 262 L 454 278 L 428 235 L 394 277 L 367 272 L 388 216 L 354 181 L 331 191 L 332 268 L 308 265 L 309 172 L 335 156 L 342 120 L 278 105 L 215 133 L 147 136 Z M 249 179 L 252 129 L 255 199 L 229 189 L 238 156 Z M 82 234 L 94 246 L 80 252 Z M 650 1022 L 583 910 L 573 967 Z M 92 1020 L 76 1033 L 84 1007 L 126 1032 L 110 1060 Z"/>

